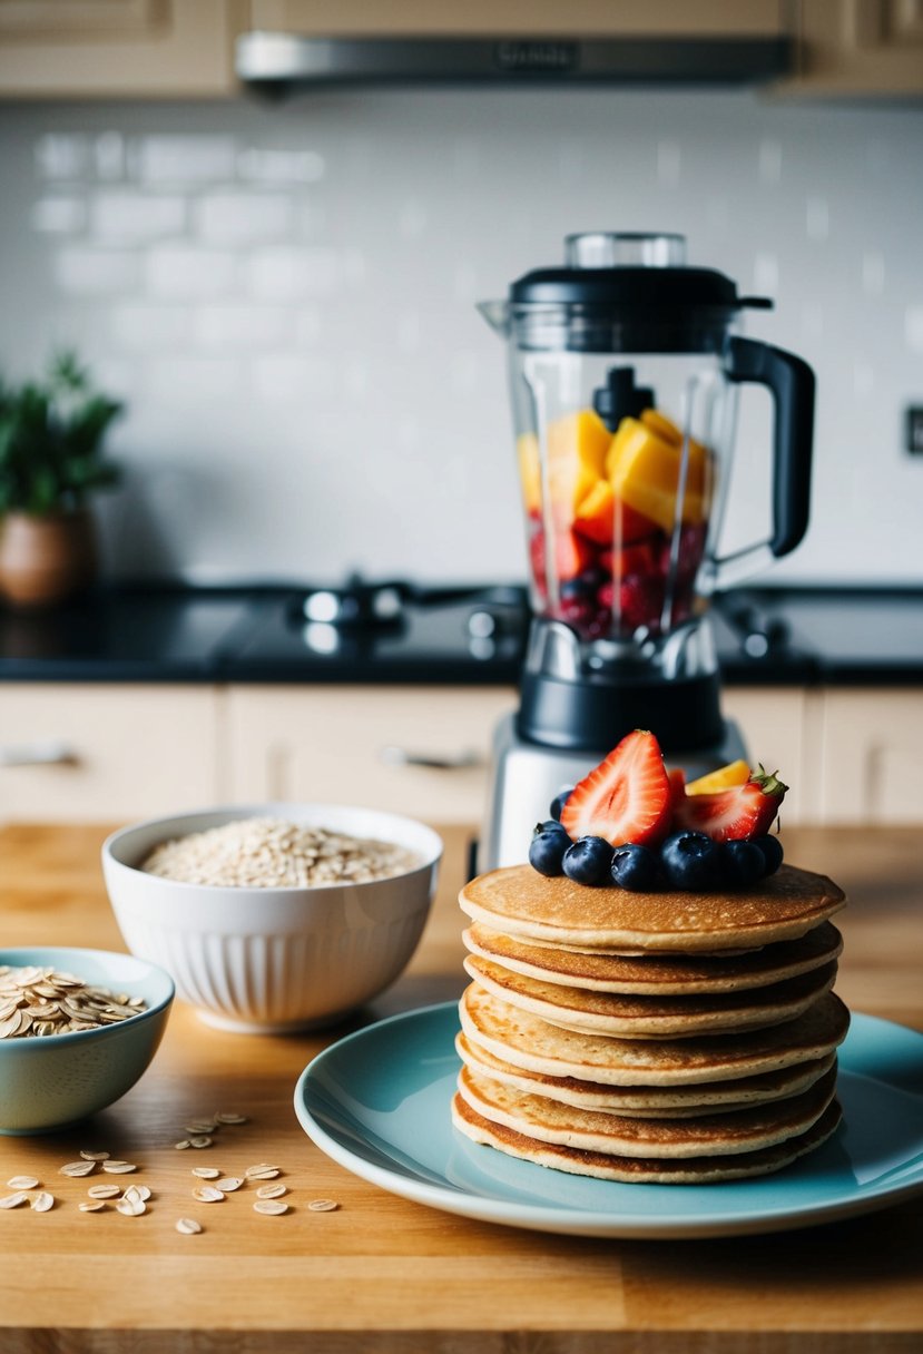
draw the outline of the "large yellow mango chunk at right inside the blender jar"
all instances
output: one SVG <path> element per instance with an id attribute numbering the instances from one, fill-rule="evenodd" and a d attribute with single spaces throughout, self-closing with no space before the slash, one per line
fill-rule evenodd
<path id="1" fill-rule="evenodd" d="M 682 441 L 658 436 L 639 418 L 623 418 L 612 439 L 606 471 L 614 494 L 635 512 L 650 517 L 667 533 L 677 517 L 686 523 L 704 521 L 709 456 L 701 443 L 688 443 L 689 455 L 682 504 L 677 504 L 682 470 Z"/>

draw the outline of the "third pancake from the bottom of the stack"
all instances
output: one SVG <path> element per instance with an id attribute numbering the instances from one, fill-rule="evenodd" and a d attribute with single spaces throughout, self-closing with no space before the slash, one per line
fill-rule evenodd
<path id="1" fill-rule="evenodd" d="M 459 1033 L 455 1048 L 461 1062 L 482 1076 L 514 1086 L 532 1095 L 547 1095 L 582 1109 L 609 1110 L 613 1114 L 686 1118 L 694 1114 L 717 1114 L 746 1109 L 750 1105 L 798 1095 L 830 1071 L 835 1053 L 796 1063 L 774 1072 L 742 1076 L 738 1080 L 704 1082 L 692 1086 L 606 1086 L 604 1082 L 581 1082 L 575 1076 L 548 1076 L 526 1071 L 497 1057 L 482 1044 Z"/>

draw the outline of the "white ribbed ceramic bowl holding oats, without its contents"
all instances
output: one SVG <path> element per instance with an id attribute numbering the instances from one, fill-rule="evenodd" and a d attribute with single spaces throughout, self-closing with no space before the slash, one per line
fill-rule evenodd
<path id="1" fill-rule="evenodd" d="M 185 884 L 138 867 L 160 842 L 241 818 L 280 818 L 394 842 L 420 865 L 314 888 Z M 436 891 L 443 842 L 410 818 L 337 804 L 249 804 L 157 818 L 103 844 L 103 873 L 133 955 L 173 976 L 203 1020 L 250 1033 L 329 1025 L 407 964 Z"/>

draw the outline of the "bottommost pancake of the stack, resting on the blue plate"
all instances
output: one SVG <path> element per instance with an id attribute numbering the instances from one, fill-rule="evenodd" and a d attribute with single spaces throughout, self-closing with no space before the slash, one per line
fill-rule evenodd
<path id="1" fill-rule="evenodd" d="M 663 1159 L 618 1156 L 609 1152 L 586 1151 L 560 1143 L 544 1143 L 520 1133 L 503 1124 L 485 1118 L 456 1093 L 452 1101 L 452 1122 L 475 1143 L 485 1143 L 505 1152 L 554 1167 L 571 1175 L 593 1175 L 597 1179 L 621 1181 L 629 1185 L 711 1185 L 719 1181 L 746 1179 L 778 1171 L 798 1156 L 815 1151 L 836 1131 L 840 1108 L 831 1101 L 820 1118 L 804 1133 L 788 1137 L 774 1147 L 757 1148 L 734 1155 Z"/>

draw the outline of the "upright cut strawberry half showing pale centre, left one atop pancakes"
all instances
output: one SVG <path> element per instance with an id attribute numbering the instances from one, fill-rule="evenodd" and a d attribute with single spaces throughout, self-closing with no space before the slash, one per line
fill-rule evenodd
<path id="1" fill-rule="evenodd" d="M 670 830 L 671 812 L 660 746 L 654 734 L 636 728 L 574 787 L 560 825 L 574 841 L 602 837 L 613 846 L 650 846 Z"/>

